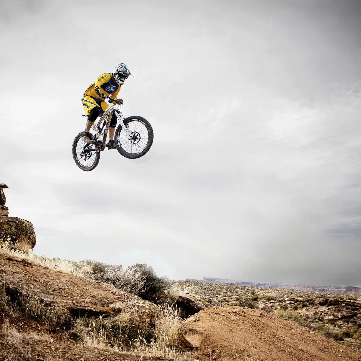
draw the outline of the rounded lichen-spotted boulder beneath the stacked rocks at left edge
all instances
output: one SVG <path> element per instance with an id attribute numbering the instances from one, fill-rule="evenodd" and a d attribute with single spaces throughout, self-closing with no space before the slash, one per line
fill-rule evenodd
<path id="1" fill-rule="evenodd" d="M 32 223 L 17 217 L 0 216 L 0 240 L 35 247 L 36 237 Z"/>

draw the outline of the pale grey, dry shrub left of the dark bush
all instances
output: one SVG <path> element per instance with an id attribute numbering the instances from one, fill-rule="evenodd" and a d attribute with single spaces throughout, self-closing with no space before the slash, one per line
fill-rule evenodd
<path id="1" fill-rule="evenodd" d="M 136 268 L 110 266 L 102 262 L 90 261 L 90 272 L 87 278 L 112 284 L 119 290 L 139 295 L 145 290 L 145 277 Z"/>

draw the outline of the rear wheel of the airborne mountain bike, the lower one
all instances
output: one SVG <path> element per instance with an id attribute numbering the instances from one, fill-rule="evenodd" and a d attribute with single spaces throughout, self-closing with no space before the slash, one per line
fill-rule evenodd
<path id="1" fill-rule="evenodd" d="M 95 144 L 83 142 L 84 132 L 79 133 L 73 142 L 73 158 L 75 164 L 86 172 L 93 170 L 99 163 L 100 152 L 96 150 Z"/>

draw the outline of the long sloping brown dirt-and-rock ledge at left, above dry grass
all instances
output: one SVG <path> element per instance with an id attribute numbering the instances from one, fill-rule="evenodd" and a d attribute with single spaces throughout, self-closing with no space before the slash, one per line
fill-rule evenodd
<path id="1" fill-rule="evenodd" d="M 152 322 L 155 305 L 118 288 L 69 273 L 33 265 L 21 258 L 0 255 L 1 278 L 13 293 L 36 296 L 48 305 L 60 306 L 76 315 L 121 312 L 132 303 L 147 322 Z"/>

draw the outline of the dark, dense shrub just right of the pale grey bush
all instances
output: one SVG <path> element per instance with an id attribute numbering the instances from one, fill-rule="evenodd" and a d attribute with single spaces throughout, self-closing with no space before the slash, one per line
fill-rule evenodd
<path id="1" fill-rule="evenodd" d="M 132 270 L 139 272 L 144 280 L 143 290 L 138 296 L 155 304 L 164 304 L 168 298 L 165 290 L 170 287 L 171 282 L 166 277 L 158 277 L 151 266 L 146 264 L 135 264 Z"/>

